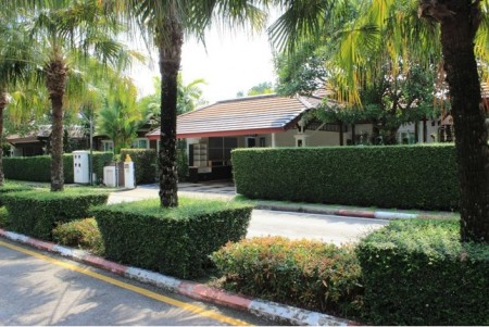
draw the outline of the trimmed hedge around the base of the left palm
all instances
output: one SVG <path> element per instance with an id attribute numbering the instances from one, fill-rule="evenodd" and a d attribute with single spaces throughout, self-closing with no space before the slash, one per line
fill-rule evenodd
<path id="1" fill-rule="evenodd" d="M 9 212 L 9 228 L 32 237 L 52 240 L 52 229 L 88 216 L 88 207 L 106 203 L 109 193 L 98 189 L 70 188 L 62 192 L 47 189 L 3 196 Z"/>

